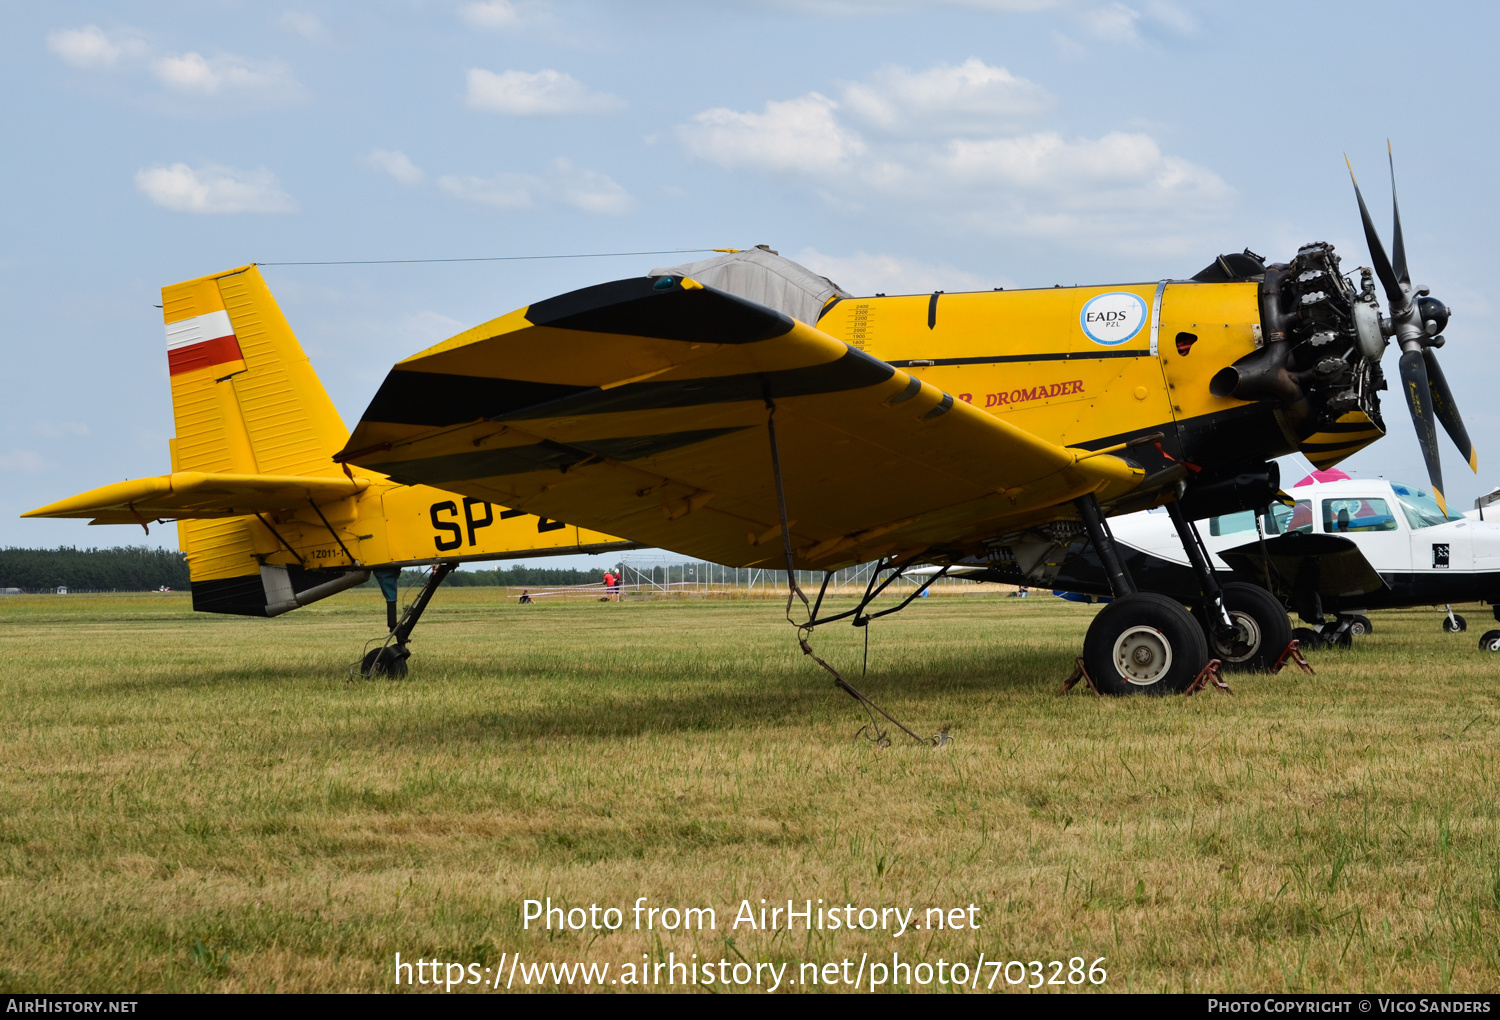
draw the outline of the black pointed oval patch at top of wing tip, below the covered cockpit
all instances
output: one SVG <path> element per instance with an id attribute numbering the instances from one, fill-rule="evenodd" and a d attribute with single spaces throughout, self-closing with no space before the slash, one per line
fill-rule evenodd
<path id="1" fill-rule="evenodd" d="M 672 280 L 662 286 L 663 280 Z M 651 336 L 688 344 L 754 344 L 782 336 L 792 320 L 712 286 L 682 290 L 681 276 L 639 276 L 549 297 L 526 309 L 536 326 Z"/>

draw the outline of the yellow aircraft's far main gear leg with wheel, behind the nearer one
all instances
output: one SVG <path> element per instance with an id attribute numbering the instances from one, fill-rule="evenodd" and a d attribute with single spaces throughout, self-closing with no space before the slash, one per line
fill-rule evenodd
<path id="1" fill-rule="evenodd" d="M 1236 672 L 1266 672 L 1275 666 L 1276 657 L 1292 640 L 1292 622 L 1276 597 L 1257 585 L 1232 580 L 1220 585 L 1209 561 L 1208 549 L 1198 530 L 1173 501 L 1167 514 L 1178 530 L 1182 550 L 1188 555 L 1192 573 L 1198 578 L 1203 603 L 1197 616 L 1203 626 L 1209 654 L 1222 663 L 1224 669 Z"/>

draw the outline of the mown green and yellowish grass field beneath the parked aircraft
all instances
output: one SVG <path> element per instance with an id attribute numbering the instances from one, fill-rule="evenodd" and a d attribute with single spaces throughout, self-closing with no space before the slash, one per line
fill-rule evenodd
<path id="1" fill-rule="evenodd" d="M 856 740 L 862 714 L 768 602 L 444 590 L 408 680 L 350 682 L 382 620 L 368 592 L 276 621 L 4 598 L 0 990 L 390 990 L 396 952 L 518 951 L 792 978 L 864 952 L 1106 957 L 1113 990 L 1500 986 L 1486 608 L 1467 634 L 1376 614 L 1317 676 L 1233 698 L 1059 698 L 1090 615 L 951 597 L 876 624 L 866 688 L 950 728 L 934 750 Z M 814 645 L 858 678 L 858 632 Z M 627 924 L 522 930 L 548 896 Z M 717 930 L 632 930 L 640 896 L 712 906 Z M 762 897 L 975 903 L 981 928 L 729 930 Z"/>

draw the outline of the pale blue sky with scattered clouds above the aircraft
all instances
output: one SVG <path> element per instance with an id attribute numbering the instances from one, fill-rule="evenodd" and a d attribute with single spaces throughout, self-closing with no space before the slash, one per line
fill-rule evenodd
<path id="1" fill-rule="evenodd" d="M 16 514 L 168 470 L 164 284 L 756 243 L 864 292 L 1190 276 L 1310 240 L 1353 267 L 1342 153 L 1389 236 L 1388 135 L 1413 276 L 1454 308 L 1480 474 L 1443 458 L 1472 506 L 1500 483 L 1494 10 L 0 2 L 0 544 L 142 540 Z M 690 258 L 264 272 L 352 423 L 428 344 Z M 1346 468 L 1420 480 L 1384 406 Z"/>

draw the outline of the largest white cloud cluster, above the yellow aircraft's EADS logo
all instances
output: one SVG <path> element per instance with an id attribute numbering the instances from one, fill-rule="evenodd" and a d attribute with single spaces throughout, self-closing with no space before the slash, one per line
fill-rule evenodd
<path id="1" fill-rule="evenodd" d="M 765 112 L 706 110 L 678 135 L 692 156 L 780 177 L 834 210 L 879 206 L 946 231 L 1122 252 L 1206 243 L 1234 202 L 1218 174 L 1143 132 L 1080 138 L 1006 123 L 1050 102 L 1041 87 L 969 60 L 885 69 L 848 86 L 843 102 L 814 92 Z M 880 130 L 861 135 L 849 117 Z"/>

